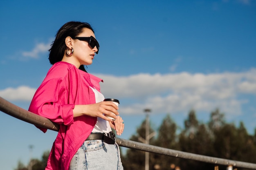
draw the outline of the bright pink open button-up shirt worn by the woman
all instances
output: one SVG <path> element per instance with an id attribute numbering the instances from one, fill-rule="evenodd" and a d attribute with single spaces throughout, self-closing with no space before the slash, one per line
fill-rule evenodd
<path id="1" fill-rule="evenodd" d="M 92 132 L 97 118 L 73 117 L 73 109 L 77 104 L 94 104 L 95 95 L 89 86 L 100 91 L 101 81 L 67 62 L 57 62 L 49 69 L 29 106 L 29 111 L 60 125 L 46 170 L 68 170 L 75 152 Z"/>

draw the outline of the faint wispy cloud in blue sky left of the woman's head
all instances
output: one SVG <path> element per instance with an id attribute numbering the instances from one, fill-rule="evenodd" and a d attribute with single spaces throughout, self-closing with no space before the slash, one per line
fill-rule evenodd
<path id="1" fill-rule="evenodd" d="M 39 53 L 47 52 L 50 49 L 51 43 L 44 44 L 39 43 L 36 44 L 35 48 L 32 51 L 24 51 L 22 52 L 22 55 L 24 57 L 31 57 L 31 58 L 37 58 Z"/>

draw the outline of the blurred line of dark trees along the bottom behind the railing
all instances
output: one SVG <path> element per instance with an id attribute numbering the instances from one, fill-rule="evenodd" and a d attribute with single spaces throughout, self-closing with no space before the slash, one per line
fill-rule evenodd
<path id="1" fill-rule="evenodd" d="M 129 140 L 141 142 L 141 138 L 145 139 L 145 131 L 146 119 Z M 150 127 L 150 133 L 153 132 L 156 132 L 157 135 L 150 139 L 150 145 L 210 157 L 256 163 L 256 130 L 254 130 L 254 135 L 250 135 L 242 121 L 238 127 L 234 123 L 227 123 L 224 113 L 220 113 L 219 109 L 211 112 L 209 121 L 206 123 L 199 122 L 195 110 L 191 110 L 187 119 L 184 120 L 184 128 L 178 127 L 171 116 L 167 114 L 157 130 Z M 31 159 L 29 165 L 33 166 L 33 170 L 44 170 L 48 156 L 49 151 L 43 154 L 41 160 Z M 121 159 L 125 170 L 145 169 L 144 151 L 129 148 L 124 152 L 121 148 Z M 214 166 L 214 164 L 201 161 L 149 154 L 149 170 L 214 170 Z M 227 166 L 220 165 L 218 168 L 226 170 Z M 29 169 L 19 161 L 14 170 Z"/>

